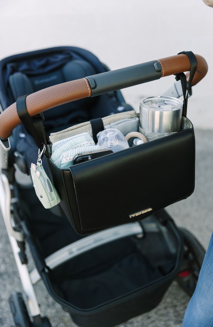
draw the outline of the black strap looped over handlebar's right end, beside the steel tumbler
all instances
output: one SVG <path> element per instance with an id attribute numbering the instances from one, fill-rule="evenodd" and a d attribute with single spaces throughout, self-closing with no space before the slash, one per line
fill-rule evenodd
<path id="1" fill-rule="evenodd" d="M 183 113 L 184 117 L 187 116 L 187 104 L 188 104 L 188 93 L 191 89 L 191 82 L 194 77 L 194 74 L 197 69 L 197 59 L 192 51 L 182 51 L 179 52 L 178 55 L 186 54 L 190 61 L 190 72 L 189 72 L 189 80 L 187 83 L 186 75 L 184 73 L 176 74 L 176 80 L 181 81 L 182 91 L 183 91 Z"/>

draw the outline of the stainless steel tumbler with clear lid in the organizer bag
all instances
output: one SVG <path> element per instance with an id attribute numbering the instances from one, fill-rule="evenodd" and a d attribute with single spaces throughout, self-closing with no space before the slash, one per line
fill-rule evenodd
<path id="1" fill-rule="evenodd" d="M 172 133 L 180 130 L 183 101 L 166 96 L 140 100 L 140 127 L 150 133 Z"/>

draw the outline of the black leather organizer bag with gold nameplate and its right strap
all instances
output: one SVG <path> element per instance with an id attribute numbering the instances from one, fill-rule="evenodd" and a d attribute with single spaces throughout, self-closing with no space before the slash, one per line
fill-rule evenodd
<path id="1" fill-rule="evenodd" d="M 195 137 L 186 118 L 186 91 L 197 60 L 192 52 L 186 54 L 191 63 L 188 85 L 184 73 L 176 75 L 183 89 L 185 129 L 70 169 L 60 169 L 47 158 L 60 206 L 77 233 L 139 221 L 193 193 Z"/>

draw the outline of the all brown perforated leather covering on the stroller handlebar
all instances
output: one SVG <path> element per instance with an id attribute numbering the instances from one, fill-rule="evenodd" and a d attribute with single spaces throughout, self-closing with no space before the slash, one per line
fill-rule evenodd
<path id="1" fill-rule="evenodd" d="M 197 58 L 198 65 L 192 85 L 197 84 L 208 71 L 208 65 L 205 59 L 199 55 L 195 56 Z M 161 64 L 161 77 L 190 70 L 190 62 L 185 54 L 167 57 L 157 61 Z M 26 107 L 29 115 L 35 116 L 40 112 L 54 108 L 61 104 L 89 96 L 91 96 L 90 85 L 86 78 L 82 78 L 54 85 L 28 95 L 26 97 Z M 8 138 L 12 133 L 12 130 L 20 123 L 21 120 L 18 117 L 15 102 L 0 114 L 0 137 Z"/>

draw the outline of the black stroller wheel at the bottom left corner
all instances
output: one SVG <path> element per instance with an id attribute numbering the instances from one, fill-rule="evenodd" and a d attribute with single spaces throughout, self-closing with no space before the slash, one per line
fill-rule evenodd
<path id="1" fill-rule="evenodd" d="M 13 315 L 14 323 L 16 327 L 31 327 L 25 301 L 23 296 L 19 292 L 14 292 L 9 297 L 10 310 Z"/>

